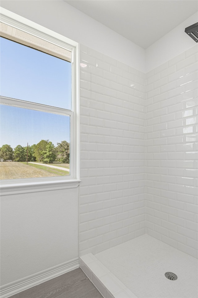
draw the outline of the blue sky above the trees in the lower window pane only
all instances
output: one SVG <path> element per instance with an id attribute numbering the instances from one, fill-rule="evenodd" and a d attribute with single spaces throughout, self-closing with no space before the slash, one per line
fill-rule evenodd
<path id="1" fill-rule="evenodd" d="M 70 142 L 69 116 L 7 105 L 1 105 L 0 116 L 0 147 L 31 146 L 41 140 L 49 140 L 54 146 L 64 140 Z"/>

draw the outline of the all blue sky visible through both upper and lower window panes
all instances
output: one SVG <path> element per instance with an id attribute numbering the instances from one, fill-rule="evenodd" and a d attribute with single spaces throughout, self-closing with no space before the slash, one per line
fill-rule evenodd
<path id="1" fill-rule="evenodd" d="M 71 63 L 1 37 L 1 95 L 71 109 Z M 70 142 L 69 116 L 1 105 L 0 147 Z"/>

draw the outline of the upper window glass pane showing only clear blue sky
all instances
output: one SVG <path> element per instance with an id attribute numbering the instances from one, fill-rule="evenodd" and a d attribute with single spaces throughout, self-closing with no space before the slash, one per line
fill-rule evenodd
<path id="1" fill-rule="evenodd" d="M 1 37 L 1 95 L 71 110 L 71 63 Z"/>

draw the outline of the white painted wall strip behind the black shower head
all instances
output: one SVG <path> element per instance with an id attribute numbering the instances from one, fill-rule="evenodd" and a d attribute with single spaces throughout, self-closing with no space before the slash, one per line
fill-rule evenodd
<path id="1" fill-rule="evenodd" d="M 185 28 L 197 23 L 197 20 L 198 12 L 149 46 L 146 49 L 145 72 L 192 48 L 196 42 L 185 33 Z"/>

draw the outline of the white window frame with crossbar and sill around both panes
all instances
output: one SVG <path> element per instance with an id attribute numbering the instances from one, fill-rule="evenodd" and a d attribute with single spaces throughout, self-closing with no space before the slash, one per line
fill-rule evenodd
<path id="1" fill-rule="evenodd" d="M 70 176 L 61 177 L 42 177 L 1 180 L 1 195 L 10 195 L 17 193 L 27 193 L 35 191 L 47 191 L 65 188 L 74 188 L 79 186 L 80 174 L 80 141 L 79 141 L 79 43 L 60 35 L 48 28 L 36 24 L 20 15 L 8 11 L 1 7 L 1 22 L 44 39 L 57 46 L 71 51 L 72 67 L 72 107 L 70 110 L 61 108 L 52 108 L 39 103 L 26 102 L 20 99 L 10 99 L 1 97 L 2 104 L 12 104 L 15 107 L 26 107 L 29 109 L 51 112 L 56 110 L 56 114 L 70 116 Z M 45 52 L 45 51 L 44 51 Z M 14 102 L 14 104 L 13 104 Z"/>

